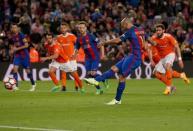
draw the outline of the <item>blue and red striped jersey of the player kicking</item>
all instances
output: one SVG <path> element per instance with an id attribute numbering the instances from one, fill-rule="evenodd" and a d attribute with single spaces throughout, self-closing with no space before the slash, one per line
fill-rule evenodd
<path id="1" fill-rule="evenodd" d="M 132 26 L 120 36 L 122 42 L 130 41 L 130 53 L 141 59 L 145 32 L 143 29 Z"/>

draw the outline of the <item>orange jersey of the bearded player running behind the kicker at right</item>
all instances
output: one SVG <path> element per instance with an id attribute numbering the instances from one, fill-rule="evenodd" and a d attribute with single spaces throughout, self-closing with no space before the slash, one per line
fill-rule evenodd
<path id="1" fill-rule="evenodd" d="M 167 33 L 164 33 L 162 38 L 158 38 L 155 35 L 152 36 L 152 40 L 157 43 L 156 48 L 161 58 L 164 58 L 168 54 L 175 52 L 176 39 Z"/>

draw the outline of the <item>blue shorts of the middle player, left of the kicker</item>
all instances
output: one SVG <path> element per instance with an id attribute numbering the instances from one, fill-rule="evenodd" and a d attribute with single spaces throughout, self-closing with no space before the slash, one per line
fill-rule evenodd
<path id="1" fill-rule="evenodd" d="M 85 60 L 86 71 L 97 71 L 99 67 L 99 60 Z"/>

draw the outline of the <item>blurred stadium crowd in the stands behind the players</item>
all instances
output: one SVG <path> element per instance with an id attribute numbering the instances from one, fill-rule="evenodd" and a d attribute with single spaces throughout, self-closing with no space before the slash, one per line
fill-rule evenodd
<path id="1" fill-rule="evenodd" d="M 77 35 L 76 23 L 88 22 L 88 30 L 101 40 L 121 34 L 118 24 L 128 12 L 136 14 L 135 25 L 152 35 L 153 25 L 163 23 L 178 40 L 183 59 L 193 60 L 192 0 L 1 0 L 0 61 L 10 61 L 10 24 L 18 23 L 30 43 L 44 56 L 45 33 L 57 35 L 62 21 Z M 121 59 L 129 43 L 105 47 L 104 60 Z"/>

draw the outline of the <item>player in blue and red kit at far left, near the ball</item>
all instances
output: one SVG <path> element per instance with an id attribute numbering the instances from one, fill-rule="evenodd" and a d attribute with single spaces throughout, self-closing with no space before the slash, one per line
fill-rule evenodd
<path id="1" fill-rule="evenodd" d="M 29 57 L 29 51 L 28 51 L 28 40 L 24 34 L 19 32 L 19 28 L 17 24 L 12 24 L 11 25 L 11 31 L 13 33 L 12 36 L 12 42 L 13 46 L 11 48 L 11 53 L 14 54 L 13 58 L 13 77 L 17 82 L 17 87 L 15 90 L 18 90 L 18 69 L 19 66 L 21 65 L 26 73 L 28 78 L 31 81 L 32 88 L 29 91 L 35 91 L 36 83 L 32 77 L 32 73 L 30 71 L 30 57 Z"/>

